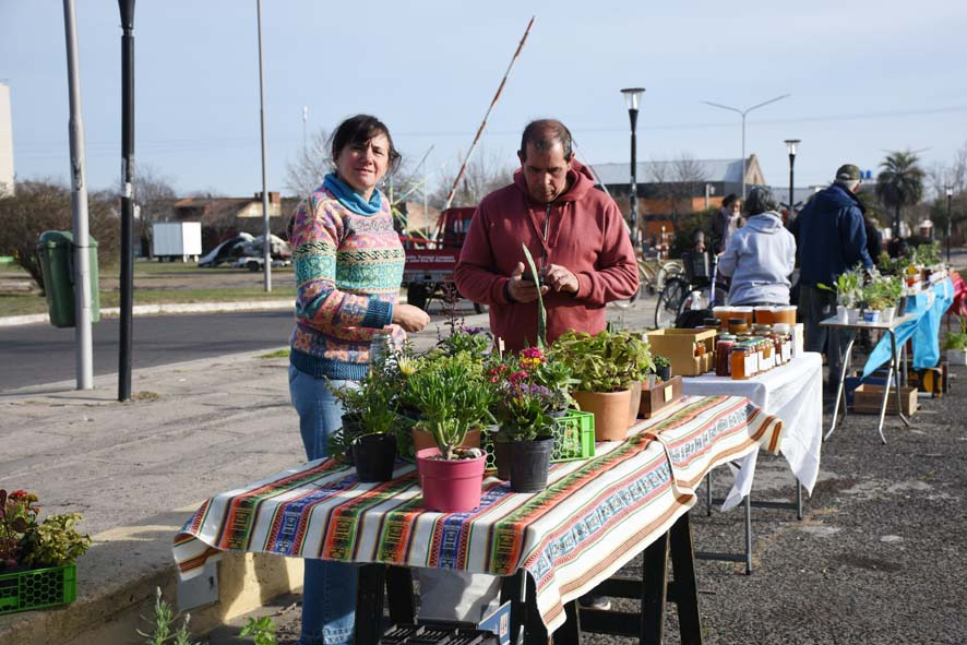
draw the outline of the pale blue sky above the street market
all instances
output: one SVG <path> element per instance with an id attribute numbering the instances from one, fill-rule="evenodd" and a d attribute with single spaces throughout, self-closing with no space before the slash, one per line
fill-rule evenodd
<path id="1" fill-rule="evenodd" d="M 619 89 L 647 88 L 638 159 L 738 158 L 786 184 L 784 139 L 801 139 L 797 186 L 824 183 L 884 151 L 923 150 L 950 162 L 967 142 L 967 3 L 489 2 L 347 3 L 265 0 L 270 190 L 310 134 L 365 111 L 428 167 L 456 165 L 530 15 L 534 29 L 484 138 L 484 154 L 514 163 L 520 131 L 553 116 L 593 163 L 629 156 Z M 117 2 L 77 0 L 88 182 L 120 176 Z M 135 12 L 138 164 L 178 191 L 246 195 L 261 189 L 254 0 L 139 2 Z M 68 98 L 62 2 L 0 0 L 0 80 L 11 86 L 19 178 L 67 179 Z M 431 180 L 432 181 L 432 180 Z"/>

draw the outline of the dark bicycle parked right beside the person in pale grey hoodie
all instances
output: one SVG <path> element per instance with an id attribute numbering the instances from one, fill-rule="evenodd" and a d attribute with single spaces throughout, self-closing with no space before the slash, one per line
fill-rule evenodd
<path id="1" fill-rule="evenodd" d="M 709 297 L 707 308 L 725 304 L 728 291 L 717 280 L 718 264 L 715 255 L 708 253 L 682 253 L 683 272 L 666 279 L 658 302 L 655 306 L 655 326 L 665 330 L 676 326 L 683 312 L 691 309 L 706 309 L 695 302 L 696 298 Z M 712 285 L 715 285 L 713 291 Z"/>

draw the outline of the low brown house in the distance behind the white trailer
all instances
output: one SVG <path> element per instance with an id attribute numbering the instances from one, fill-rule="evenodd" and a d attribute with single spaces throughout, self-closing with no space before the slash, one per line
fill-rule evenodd
<path id="1" fill-rule="evenodd" d="M 295 201 L 285 200 L 280 193 L 268 193 L 268 224 L 273 234 L 285 238 L 288 215 Z M 288 203 L 291 202 L 291 203 Z M 186 198 L 175 202 L 176 222 L 202 223 L 202 252 L 207 253 L 222 241 L 239 232 L 261 235 L 262 193 L 251 198 Z"/>

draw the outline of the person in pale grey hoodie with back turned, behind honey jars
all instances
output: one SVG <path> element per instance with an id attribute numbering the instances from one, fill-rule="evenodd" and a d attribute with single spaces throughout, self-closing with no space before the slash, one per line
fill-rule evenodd
<path id="1" fill-rule="evenodd" d="M 718 272 L 732 278 L 729 304 L 789 304 L 796 238 L 783 226 L 779 204 L 767 188 L 749 193 L 745 226 L 729 238 Z"/>

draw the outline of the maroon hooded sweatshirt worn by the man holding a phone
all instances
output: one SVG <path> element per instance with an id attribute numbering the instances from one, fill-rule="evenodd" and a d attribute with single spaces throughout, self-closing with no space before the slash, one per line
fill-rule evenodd
<path id="1" fill-rule="evenodd" d="M 558 264 L 577 276 L 577 294 L 544 296 L 548 343 L 568 330 L 597 334 L 605 329 L 605 304 L 630 298 L 638 288 L 637 263 L 618 205 L 594 188 L 590 172 L 576 159 L 568 175 L 571 188 L 545 204 L 530 199 L 518 169 L 513 184 L 477 206 L 461 251 L 457 289 L 490 306 L 490 331 L 510 350 L 537 344 L 537 301 L 513 302 L 504 290 L 517 262 L 527 266 L 522 242 L 538 268 Z"/>

